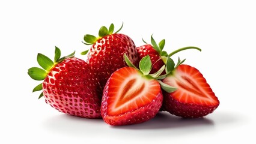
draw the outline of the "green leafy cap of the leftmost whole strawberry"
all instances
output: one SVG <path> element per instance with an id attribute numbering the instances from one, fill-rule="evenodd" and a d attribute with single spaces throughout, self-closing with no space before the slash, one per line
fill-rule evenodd
<path id="1" fill-rule="evenodd" d="M 38 68 L 38 67 L 29 68 L 28 75 L 34 80 L 44 80 L 47 74 L 50 72 L 50 70 L 52 70 L 52 68 L 55 67 L 56 64 L 64 61 L 64 59 L 73 58 L 74 55 L 75 55 L 75 52 L 61 58 L 61 50 L 56 46 L 55 46 L 54 61 L 49 59 L 47 56 L 41 53 L 38 53 L 37 62 L 41 66 L 41 68 Z M 39 85 L 35 86 L 32 92 L 41 91 L 42 89 L 43 89 L 43 86 L 42 86 L 42 83 L 40 83 Z M 41 92 L 38 99 L 41 97 L 43 97 L 43 92 Z"/>

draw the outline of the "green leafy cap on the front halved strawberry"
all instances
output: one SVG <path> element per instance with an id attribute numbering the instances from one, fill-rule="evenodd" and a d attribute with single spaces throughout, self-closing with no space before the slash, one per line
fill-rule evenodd
<path id="1" fill-rule="evenodd" d="M 139 68 L 135 67 L 135 65 L 133 65 L 132 62 L 130 62 L 130 59 L 127 57 L 125 53 L 124 53 L 124 61 L 126 61 L 126 64 L 129 67 L 133 67 L 136 70 L 138 70 L 143 77 L 146 77 L 147 79 L 156 79 L 157 82 L 159 82 L 161 88 L 166 92 L 174 92 L 177 89 L 161 81 L 161 79 L 164 79 L 166 77 L 166 74 L 161 75 L 162 72 L 165 70 L 165 65 L 163 65 L 156 73 L 149 74 L 152 69 L 152 63 L 149 55 L 144 56 L 144 58 L 142 58 L 141 61 L 139 61 Z"/>

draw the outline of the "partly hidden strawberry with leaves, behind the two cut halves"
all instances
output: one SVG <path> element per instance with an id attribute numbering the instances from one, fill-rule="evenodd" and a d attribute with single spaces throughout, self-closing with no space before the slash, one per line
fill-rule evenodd
<path id="1" fill-rule="evenodd" d="M 144 43 L 146 42 L 144 41 Z M 168 54 L 165 51 L 162 51 L 164 46 L 164 39 L 160 41 L 159 45 L 157 45 L 156 41 L 154 41 L 154 38 L 151 35 L 151 44 L 146 43 L 143 46 L 136 47 L 139 60 L 147 55 L 150 56 L 151 62 L 153 64 L 150 73 L 156 73 L 156 71 L 158 71 L 163 65 L 165 65 L 163 61 L 166 59 L 166 56 L 168 56 Z M 163 74 L 165 74 L 165 71 L 163 71 Z"/>

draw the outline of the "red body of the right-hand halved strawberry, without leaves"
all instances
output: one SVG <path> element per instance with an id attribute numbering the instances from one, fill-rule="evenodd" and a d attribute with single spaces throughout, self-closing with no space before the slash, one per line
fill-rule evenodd
<path id="1" fill-rule="evenodd" d="M 198 118 L 212 113 L 219 100 L 197 68 L 178 65 L 163 83 L 177 88 L 163 92 L 163 109 L 183 118 Z"/>

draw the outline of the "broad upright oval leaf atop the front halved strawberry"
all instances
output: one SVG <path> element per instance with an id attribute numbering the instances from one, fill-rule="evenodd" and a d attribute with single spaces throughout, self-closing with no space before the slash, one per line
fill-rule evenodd
<path id="1" fill-rule="evenodd" d="M 152 63 L 150 60 L 150 56 L 144 56 L 144 58 L 141 59 L 141 61 L 139 61 L 139 69 L 141 70 L 141 72 L 144 75 L 148 75 L 151 71 L 152 68 Z"/>

